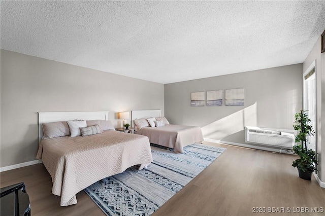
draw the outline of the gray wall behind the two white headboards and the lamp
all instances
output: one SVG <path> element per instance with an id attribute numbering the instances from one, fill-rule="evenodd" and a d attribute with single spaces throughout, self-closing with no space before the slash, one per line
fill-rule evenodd
<path id="1" fill-rule="evenodd" d="M 1 50 L 1 167 L 36 160 L 38 112 L 161 109 L 164 85 Z"/>

